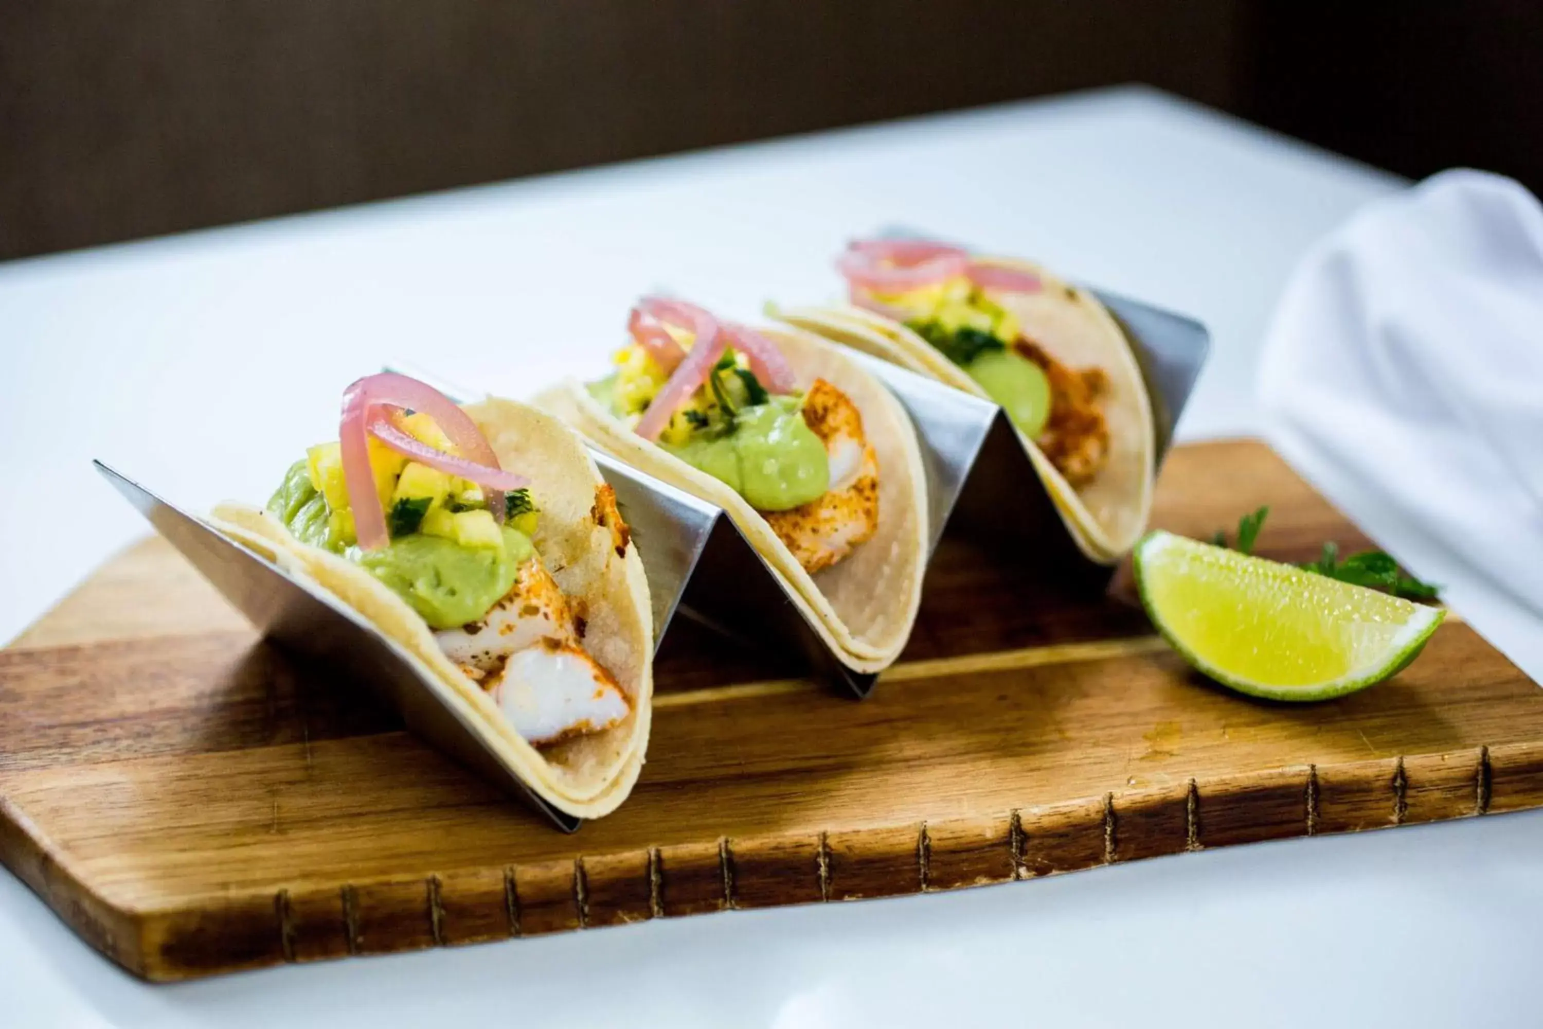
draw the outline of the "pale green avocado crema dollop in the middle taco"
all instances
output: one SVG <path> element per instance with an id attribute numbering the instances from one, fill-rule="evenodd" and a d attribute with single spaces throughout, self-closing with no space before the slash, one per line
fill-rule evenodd
<path id="1" fill-rule="evenodd" d="M 826 444 L 804 424 L 798 396 L 772 396 L 734 412 L 722 434 L 660 443 L 687 464 L 725 483 L 758 511 L 790 511 L 830 489 Z"/>

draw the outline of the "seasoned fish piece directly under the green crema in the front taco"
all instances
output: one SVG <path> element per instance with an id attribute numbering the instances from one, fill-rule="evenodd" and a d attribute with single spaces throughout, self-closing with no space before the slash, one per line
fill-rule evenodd
<path id="1" fill-rule="evenodd" d="M 441 629 L 434 634 L 444 656 L 472 679 L 497 670 L 506 657 L 552 640 L 577 642 L 572 605 L 540 557 L 520 565 L 514 586 L 481 622 Z"/>

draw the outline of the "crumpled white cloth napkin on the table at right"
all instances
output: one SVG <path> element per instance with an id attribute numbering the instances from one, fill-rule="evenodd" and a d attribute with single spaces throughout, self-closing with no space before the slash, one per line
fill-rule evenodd
<path id="1" fill-rule="evenodd" d="M 1543 617 L 1543 208 L 1524 188 L 1446 171 L 1318 244 L 1259 395 L 1288 455 Z"/>

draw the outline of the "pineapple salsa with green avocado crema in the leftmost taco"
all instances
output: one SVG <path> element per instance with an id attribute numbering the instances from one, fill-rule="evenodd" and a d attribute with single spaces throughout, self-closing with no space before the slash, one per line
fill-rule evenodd
<path id="1" fill-rule="evenodd" d="M 455 447 L 424 413 L 401 427 L 438 450 Z M 435 629 L 477 622 L 509 589 L 534 552 L 537 514 L 528 491 L 506 494 L 508 518 L 494 521 L 481 488 L 412 461 L 369 440 L 370 469 L 386 511 L 390 543 L 363 551 L 336 443 L 321 443 L 295 461 L 268 500 L 268 512 L 302 543 L 356 562 Z"/>

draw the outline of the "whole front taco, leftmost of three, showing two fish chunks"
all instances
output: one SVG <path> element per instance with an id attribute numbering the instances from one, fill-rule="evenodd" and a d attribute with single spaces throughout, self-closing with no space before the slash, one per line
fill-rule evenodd
<path id="1" fill-rule="evenodd" d="M 265 508 L 213 514 L 401 645 L 554 807 L 596 818 L 626 798 L 648 744 L 648 583 L 616 495 L 557 418 L 372 375 L 344 393 L 339 440 L 295 461 Z"/>

